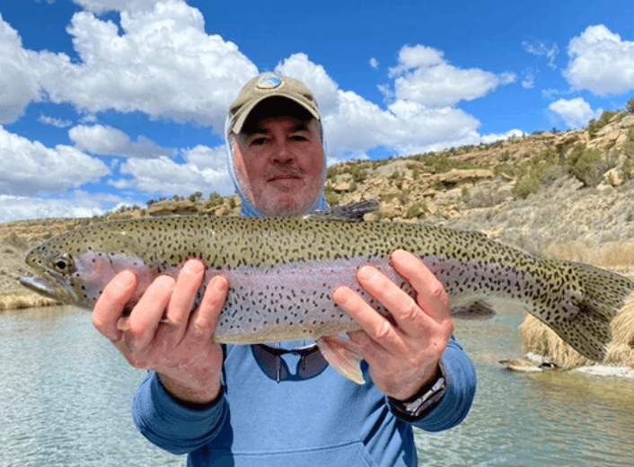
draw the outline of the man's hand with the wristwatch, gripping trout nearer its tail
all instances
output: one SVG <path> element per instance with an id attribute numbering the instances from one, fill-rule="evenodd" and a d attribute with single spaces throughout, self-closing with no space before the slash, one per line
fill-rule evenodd
<path id="1" fill-rule="evenodd" d="M 363 330 L 349 332 L 361 346 L 376 387 L 404 401 L 429 383 L 453 333 L 449 297 L 421 260 L 406 251 L 394 251 L 392 264 L 417 292 L 414 301 L 378 270 L 365 266 L 357 280 L 392 314 L 393 326 L 347 286 L 333 299 Z"/>

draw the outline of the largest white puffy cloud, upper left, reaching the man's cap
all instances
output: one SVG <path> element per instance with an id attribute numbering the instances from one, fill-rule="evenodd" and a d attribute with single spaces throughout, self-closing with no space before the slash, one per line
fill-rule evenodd
<path id="1" fill-rule="evenodd" d="M 118 9 L 127 2 L 84 2 Z M 0 123 L 20 118 L 46 97 L 88 113 L 140 110 L 152 118 L 224 127 L 226 109 L 258 70 L 233 42 L 208 35 L 202 14 L 179 0 L 123 10 L 119 28 L 91 12 L 66 31 L 79 61 L 22 48 L 0 17 Z M 119 6 L 118 6 L 119 5 Z M 61 79 L 60 79 L 61 77 Z"/>

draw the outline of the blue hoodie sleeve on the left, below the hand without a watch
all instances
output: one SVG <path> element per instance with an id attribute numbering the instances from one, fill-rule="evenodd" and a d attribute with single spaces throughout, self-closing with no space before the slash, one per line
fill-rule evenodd
<path id="1" fill-rule="evenodd" d="M 203 410 L 184 407 L 149 372 L 132 401 L 132 419 L 154 445 L 172 454 L 187 454 L 218 436 L 227 419 L 227 404 L 222 395 Z"/>

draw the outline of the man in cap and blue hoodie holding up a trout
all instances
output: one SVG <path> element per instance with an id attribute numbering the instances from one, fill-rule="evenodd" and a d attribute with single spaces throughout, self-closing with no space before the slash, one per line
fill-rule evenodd
<path id="1" fill-rule="evenodd" d="M 268 73 L 244 86 L 225 134 L 242 215 L 326 207 L 321 129 L 304 84 Z M 229 285 L 212 278 L 192 311 L 204 273 L 198 260 L 176 280 L 157 278 L 128 317 L 121 311 L 136 278 L 120 273 L 92 317 L 132 366 L 153 370 L 136 392 L 136 426 L 154 444 L 189 454 L 188 465 L 417 465 L 412 425 L 437 431 L 460 423 L 475 373 L 452 338 L 443 286 L 409 253 L 395 251 L 391 260 L 416 300 L 372 267 L 357 279 L 393 322 L 346 286 L 332 293 L 363 329 L 349 338 L 365 359 L 364 385 L 327 366 L 310 342 L 216 344 Z"/>

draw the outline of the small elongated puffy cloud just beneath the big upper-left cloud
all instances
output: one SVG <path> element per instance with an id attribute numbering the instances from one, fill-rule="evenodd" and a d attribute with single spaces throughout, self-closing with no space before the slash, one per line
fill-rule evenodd
<path id="1" fill-rule="evenodd" d="M 77 125 L 68 131 L 77 149 L 94 154 L 122 155 L 124 157 L 157 157 L 170 155 L 172 149 L 156 145 L 154 141 L 139 136 L 135 142 L 118 128 L 104 125 Z"/>

